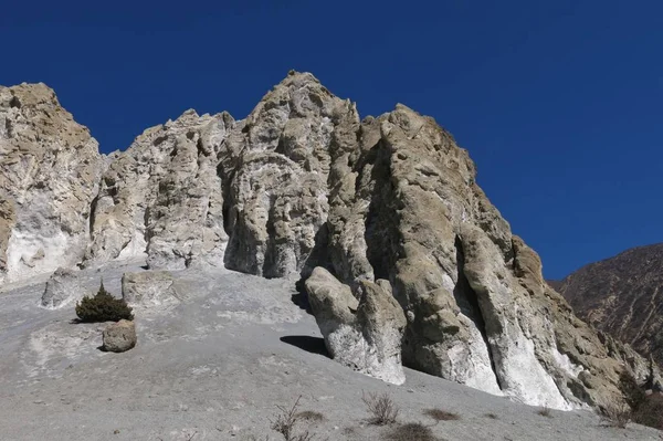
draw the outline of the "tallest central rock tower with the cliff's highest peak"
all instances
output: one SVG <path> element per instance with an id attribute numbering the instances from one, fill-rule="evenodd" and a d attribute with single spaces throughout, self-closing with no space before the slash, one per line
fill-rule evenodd
<path id="1" fill-rule="evenodd" d="M 332 95 L 311 74 L 292 73 L 249 115 L 228 176 L 230 241 L 225 265 L 266 277 L 313 265 L 324 240 L 334 133 L 358 122 L 349 101 Z"/>

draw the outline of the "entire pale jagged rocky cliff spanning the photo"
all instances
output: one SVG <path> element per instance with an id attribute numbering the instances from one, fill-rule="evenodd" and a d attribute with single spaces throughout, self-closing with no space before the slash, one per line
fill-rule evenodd
<path id="1" fill-rule="evenodd" d="M 622 370 L 651 377 L 573 315 L 467 151 L 406 106 L 361 120 L 291 72 L 244 120 L 188 111 L 103 158 L 50 90 L 0 96 L 6 277 L 138 258 L 302 277 L 339 363 L 530 405 L 607 406 Z"/>

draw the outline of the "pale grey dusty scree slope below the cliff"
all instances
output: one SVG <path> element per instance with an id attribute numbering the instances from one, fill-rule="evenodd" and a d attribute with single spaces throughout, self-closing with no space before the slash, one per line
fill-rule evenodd
<path id="1" fill-rule="evenodd" d="M 90 292 L 104 277 L 119 295 L 124 271 L 81 272 Z M 292 301 L 293 281 L 230 271 L 182 271 L 180 303 L 136 308 L 137 346 L 99 350 L 104 324 L 76 324 L 74 305 L 38 306 L 45 280 L 0 293 L 1 440 L 281 440 L 277 406 L 323 416 L 297 428 L 314 440 L 389 440 L 421 422 L 438 440 L 659 440 L 636 424 L 606 427 L 589 411 L 550 411 L 413 370 L 403 386 L 354 372 L 325 351 L 314 318 Z M 388 392 L 398 423 L 376 427 L 362 391 Z M 427 409 L 454 412 L 440 421 Z M 267 438 L 269 437 L 269 438 Z M 414 438 L 409 438 L 415 440 Z M 402 440 L 402 438 L 401 438 Z"/>

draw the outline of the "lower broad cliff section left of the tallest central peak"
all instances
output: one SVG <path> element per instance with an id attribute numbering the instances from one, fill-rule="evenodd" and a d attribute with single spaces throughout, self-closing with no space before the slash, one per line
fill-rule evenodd
<path id="1" fill-rule="evenodd" d="M 150 269 L 221 265 L 228 237 L 217 155 L 233 126 L 227 113 L 187 111 L 118 154 L 93 202 L 86 264 L 147 256 Z"/>

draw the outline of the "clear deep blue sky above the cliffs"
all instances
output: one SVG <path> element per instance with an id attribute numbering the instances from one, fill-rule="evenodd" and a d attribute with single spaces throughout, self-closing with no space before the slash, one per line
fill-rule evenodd
<path id="1" fill-rule="evenodd" d="M 311 71 L 435 117 L 547 277 L 663 241 L 661 0 L 7 1 L 0 41 L 0 84 L 45 82 L 103 151 Z"/>

